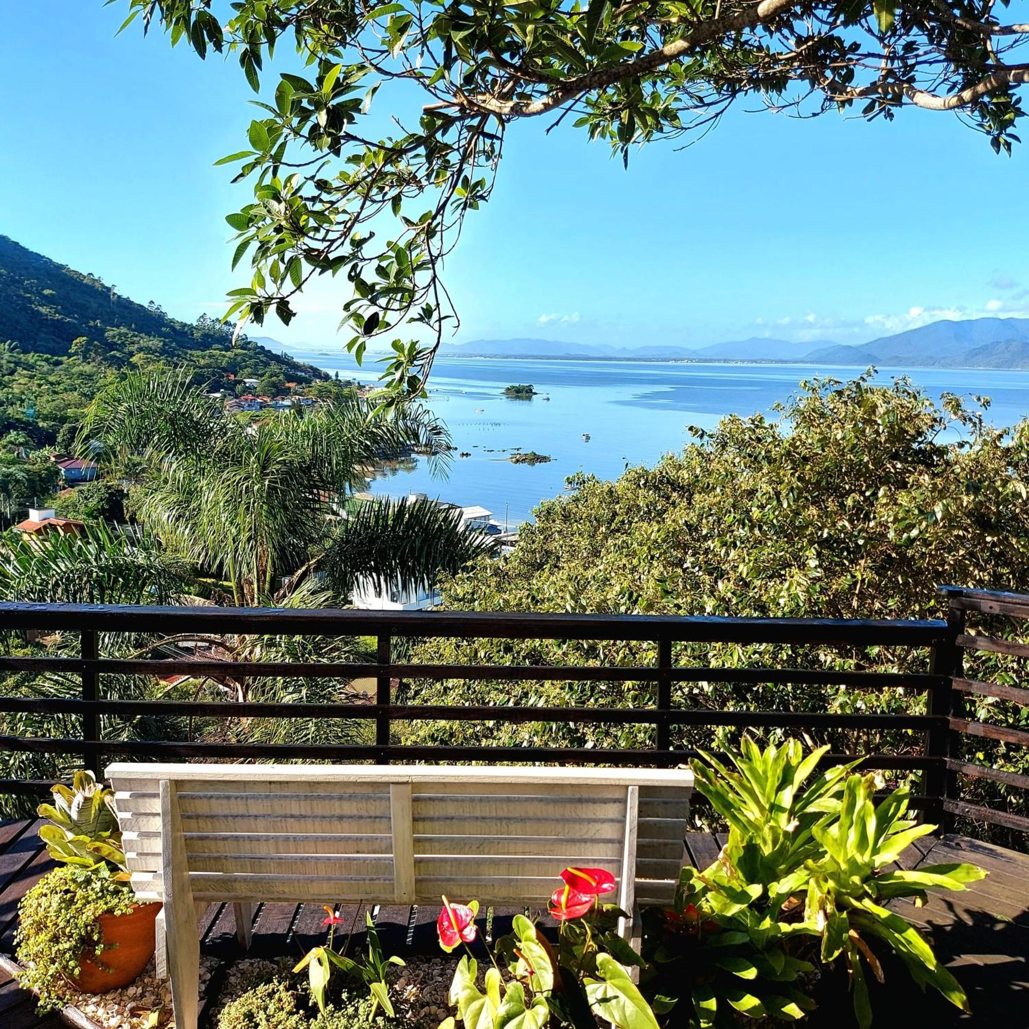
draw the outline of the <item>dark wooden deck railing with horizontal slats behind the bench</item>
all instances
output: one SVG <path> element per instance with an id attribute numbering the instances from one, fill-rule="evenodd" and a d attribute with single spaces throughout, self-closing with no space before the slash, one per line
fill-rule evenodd
<path id="1" fill-rule="evenodd" d="M 333 761 L 519 761 L 596 765 L 675 765 L 696 751 L 675 743 L 679 726 L 754 726 L 835 731 L 863 731 L 866 738 L 898 731 L 904 746 L 894 752 L 876 749 L 835 752 L 829 760 L 857 756 L 867 768 L 920 771 L 915 805 L 933 820 L 972 818 L 1029 831 L 1029 818 L 959 795 L 963 781 L 981 778 L 1010 788 L 1029 788 L 1029 777 L 965 759 L 967 736 L 985 737 L 1004 745 L 1029 745 L 1029 732 L 1000 728 L 965 717 L 966 694 L 1000 698 L 1029 705 L 1029 689 L 964 678 L 967 649 L 1007 657 L 1029 655 L 1029 645 L 1008 639 L 972 635 L 969 612 L 1029 618 L 1029 597 L 946 588 L 947 620 L 720 618 L 646 615 L 478 614 L 462 612 L 388 612 L 343 610 L 230 609 L 214 607 L 100 607 L 51 604 L 0 604 L 0 633 L 73 634 L 75 657 L 0 657 L 0 674 L 60 673 L 81 681 L 76 697 L 0 697 L 0 712 L 37 712 L 73 715 L 80 735 L 58 738 L 0 736 L 0 750 L 42 754 L 80 754 L 86 766 L 99 770 L 115 754 L 179 759 L 309 759 Z M 225 662 L 194 655 L 167 659 L 104 658 L 108 634 L 151 637 L 203 633 L 212 636 L 326 636 L 372 637 L 374 663 Z M 593 642 L 635 641 L 652 652 L 653 661 L 620 665 L 474 665 L 424 664 L 397 661 L 395 644 L 403 639 L 450 637 L 459 639 L 562 640 Z M 906 653 L 901 667 L 913 672 L 835 671 L 826 668 L 725 668 L 710 664 L 676 664 L 682 644 L 767 644 L 776 647 L 862 648 L 890 647 Z M 796 652 L 796 651 L 794 651 Z M 772 662 L 770 662 L 772 664 Z M 184 701 L 109 700 L 102 695 L 102 676 L 334 678 L 368 679 L 375 695 L 366 703 L 269 704 Z M 498 682 L 625 682 L 652 686 L 648 707 L 411 705 L 396 703 L 394 685 L 411 680 L 487 680 Z M 926 694 L 924 714 L 827 713 L 783 710 L 711 710 L 676 706 L 677 684 L 718 682 L 741 686 L 811 685 L 853 689 L 903 688 Z M 210 743 L 168 740 L 114 740 L 103 736 L 103 716 L 171 715 L 222 718 L 370 719 L 374 743 L 273 744 Z M 604 725 L 652 725 L 652 746 L 633 749 L 562 746 L 453 746 L 393 742 L 391 726 L 407 721 L 576 722 Z M 914 735 L 912 735 L 914 734 Z M 894 737 L 895 739 L 895 737 Z M 41 780 L 0 780 L 0 792 L 45 788 Z"/>

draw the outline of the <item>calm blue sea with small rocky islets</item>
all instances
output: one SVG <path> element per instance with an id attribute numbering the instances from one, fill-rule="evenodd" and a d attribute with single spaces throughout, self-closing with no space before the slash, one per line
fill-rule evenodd
<path id="1" fill-rule="evenodd" d="M 291 351 L 343 377 L 371 382 L 374 363 L 355 369 L 346 353 Z M 462 358 L 436 361 L 429 403 L 450 427 L 458 451 L 446 478 L 433 478 L 426 462 L 413 471 L 380 478 L 372 492 L 390 496 L 427 493 L 454 503 L 482 504 L 511 526 L 531 519 L 533 507 L 562 492 L 578 471 L 615 478 L 628 466 L 652 464 L 688 440 L 687 425 L 713 428 L 723 415 L 768 412 L 802 379 L 851 379 L 861 368 L 799 364 L 674 364 L 611 361 L 526 361 Z M 995 425 L 1029 415 L 1029 370 L 884 368 L 879 379 L 907 375 L 936 397 L 944 392 L 992 399 Z M 508 400 L 512 383 L 531 383 L 540 395 Z M 544 400 L 543 397 L 549 397 Z M 590 435 L 589 442 L 582 434 Z M 510 448 L 548 454 L 548 464 L 516 465 Z"/>

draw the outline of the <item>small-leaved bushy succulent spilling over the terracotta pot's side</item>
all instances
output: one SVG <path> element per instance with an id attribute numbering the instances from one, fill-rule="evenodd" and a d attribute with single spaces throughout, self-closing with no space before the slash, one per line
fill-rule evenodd
<path id="1" fill-rule="evenodd" d="M 14 943 L 23 971 L 42 1010 L 61 1007 L 67 981 L 81 971 L 81 958 L 103 961 L 101 915 L 128 915 L 136 898 L 126 884 L 77 864 L 48 872 L 17 908 Z"/>

